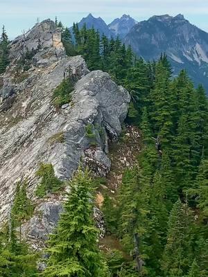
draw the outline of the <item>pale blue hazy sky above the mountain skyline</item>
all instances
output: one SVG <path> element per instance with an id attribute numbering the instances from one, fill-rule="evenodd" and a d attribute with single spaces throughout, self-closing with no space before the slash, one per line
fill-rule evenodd
<path id="1" fill-rule="evenodd" d="M 10 39 L 14 39 L 37 20 L 54 20 L 57 16 L 64 26 L 71 26 L 89 12 L 107 24 L 123 14 L 142 21 L 153 15 L 181 13 L 208 32 L 207 0 L 0 0 L 0 26 L 5 25 Z"/>

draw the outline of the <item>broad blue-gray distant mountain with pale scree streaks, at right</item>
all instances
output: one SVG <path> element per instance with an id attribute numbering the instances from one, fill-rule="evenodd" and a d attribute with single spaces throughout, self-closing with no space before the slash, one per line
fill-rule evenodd
<path id="1" fill-rule="evenodd" d="M 166 52 L 175 74 L 187 69 L 194 82 L 208 90 L 208 33 L 184 19 L 183 15 L 154 16 L 135 25 L 124 42 L 137 55 L 154 60 Z"/>

